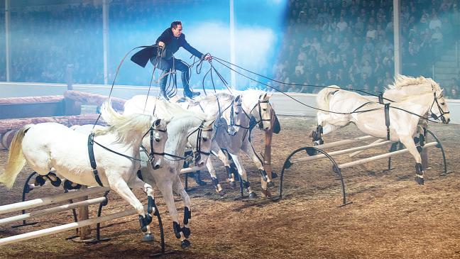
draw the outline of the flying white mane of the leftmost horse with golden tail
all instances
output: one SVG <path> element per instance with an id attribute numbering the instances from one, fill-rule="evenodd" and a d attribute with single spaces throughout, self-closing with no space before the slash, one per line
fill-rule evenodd
<path id="1" fill-rule="evenodd" d="M 94 135 L 114 133 L 117 141 L 122 142 L 126 142 L 129 133 L 147 130 L 153 123 L 153 117 L 148 114 L 119 114 L 112 108 L 110 99 L 102 104 L 101 116 L 108 126 L 97 128 Z"/>

